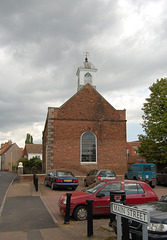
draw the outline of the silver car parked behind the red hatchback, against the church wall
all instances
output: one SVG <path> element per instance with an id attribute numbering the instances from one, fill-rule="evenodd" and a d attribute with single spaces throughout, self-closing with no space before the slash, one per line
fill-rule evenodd
<path id="1" fill-rule="evenodd" d="M 92 183 L 95 183 L 97 181 L 101 181 L 104 179 L 112 180 L 115 178 L 116 178 L 116 175 L 112 170 L 107 170 L 107 169 L 91 170 L 90 172 L 88 172 L 86 178 L 84 179 L 84 186 L 87 187 Z"/>

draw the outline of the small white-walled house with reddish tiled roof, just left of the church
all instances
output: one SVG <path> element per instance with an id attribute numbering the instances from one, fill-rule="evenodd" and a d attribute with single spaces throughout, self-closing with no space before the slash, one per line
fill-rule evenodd
<path id="1" fill-rule="evenodd" d="M 42 144 L 25 144 L 23 157 L 28 160 L 37 157 L 42 160 Z"/>

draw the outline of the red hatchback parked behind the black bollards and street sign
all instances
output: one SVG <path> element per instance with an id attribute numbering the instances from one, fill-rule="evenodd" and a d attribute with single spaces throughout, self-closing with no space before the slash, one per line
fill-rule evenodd
<path id="1" fill-rule="evenodd" d="M 103 180 L 71 195 L 70 216 L 82 221 L 87 218 L 87 199 L 93 199 L 93 215 L 110 213 L 110 191 L 125 191 L 126 204 L 142 204 L 158 201 L 154 190 L 145 182 L 135 180 Z M 65 215 L 66 194 L 59 198 L 59 210 Z"/>

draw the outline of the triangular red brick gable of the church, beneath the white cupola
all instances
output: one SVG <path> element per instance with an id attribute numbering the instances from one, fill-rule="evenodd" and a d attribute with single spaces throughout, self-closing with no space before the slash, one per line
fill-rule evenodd
<path id="1" fill-rule="evenodd" d="M 116 110 L 87 84 L 59 108 L 57 118 L 125 120 L 125 110 Z"/>

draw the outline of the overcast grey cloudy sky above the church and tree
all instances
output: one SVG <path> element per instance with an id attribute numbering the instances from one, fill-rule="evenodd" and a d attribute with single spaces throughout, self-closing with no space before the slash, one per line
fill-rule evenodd
<path id="1" fill-rule="evenodd" d="M 0 143 L 42 143 L 47 109 L 76 93 L 86 51 L 96 90 L 126 109 L 127 141 L 138 139 L 148 88 L 167 76 L 166 0 L 0 3 Z"/>

